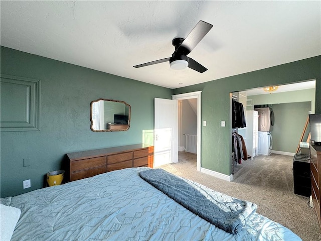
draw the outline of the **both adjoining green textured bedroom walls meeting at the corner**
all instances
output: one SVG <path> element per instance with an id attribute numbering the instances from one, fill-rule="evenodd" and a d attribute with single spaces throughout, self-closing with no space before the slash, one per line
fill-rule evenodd
<path id="1" fill-rule="evenodd" d="M 320 60 L 317 56 L 172 91 L 1 47 L 2 74 L 41 80 L 40 131 L 1 133 L 1 197 L 43 187 L 45 174 L 62 168 L 66 153 L 142 140 L 152 143 L 153 99 L 198 90 L 202 90 L 202 121 L 207 121 L 202 127 L 201 165 L 230 175 L 230 92 L 316 79 L 315 113 L 321 113 Z M 90 131 L 89 106 L 98 98 L 131 105 L 127 132 Z M 221 121 L 226 127 L 221 127 Z M 31 166 L 23 167 L 24 158 L 30 158 Z M 23 189 L 26 179 L 31 179 L 29 189 Z"/>

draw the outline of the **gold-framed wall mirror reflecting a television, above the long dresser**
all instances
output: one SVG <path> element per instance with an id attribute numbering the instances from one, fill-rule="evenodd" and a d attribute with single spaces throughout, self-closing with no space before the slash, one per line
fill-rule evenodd
<path id="1" fill-rule="evenodd" d="M 113 99 L 91 101 L 90 122 L 93 132 L 127 131 L 130 127 L 130 105 Z"/>

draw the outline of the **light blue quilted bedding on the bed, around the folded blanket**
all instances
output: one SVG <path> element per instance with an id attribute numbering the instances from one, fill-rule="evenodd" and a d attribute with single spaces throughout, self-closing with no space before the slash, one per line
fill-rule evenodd
<path id="1" fill-rule="evenodd" d="M 0 199 L 21 210 L 11 240 L 301 240 L 255 208 L 236 233 L 218 228 L 146 182 L 148 170 L 156 169 L 126 168 Z"/>

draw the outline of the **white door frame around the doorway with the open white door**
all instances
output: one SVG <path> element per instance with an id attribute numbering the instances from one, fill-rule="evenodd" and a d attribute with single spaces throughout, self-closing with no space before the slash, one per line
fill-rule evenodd
<path id="1" fill-rule="evenodd" d="M 202 91 L 195 91 L 184 94 L 174 94 L 173 99 L 195 99 L 197 98 L 197 171 L 201 171 L 201 93 Z"/>

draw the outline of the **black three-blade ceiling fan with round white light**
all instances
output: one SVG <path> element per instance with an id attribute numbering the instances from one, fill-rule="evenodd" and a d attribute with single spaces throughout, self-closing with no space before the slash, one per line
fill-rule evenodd
<path id="1" fill-rule="evenodd" d="M 170 66 L 172 69 L 185 69 L 189 67 L 200 73 L 205 72 L 207 68 L 196 62 L 194 59 L 187 57 L 187 55 L 191 53 L 195 46 L 204 38 L 204 36 L 211 30 L 212 27 L 213 25 L 209 23 L 199 21 L 186 37 L 186 39 L 173 39 L 172 44 L 175 46 L 175 51 L 172 54 L 172 57 L 158 59 L 144 64 L 138 64 L 133 67 L 140 68 L 152 64 L 159 64 L 170 61 Z"/>

